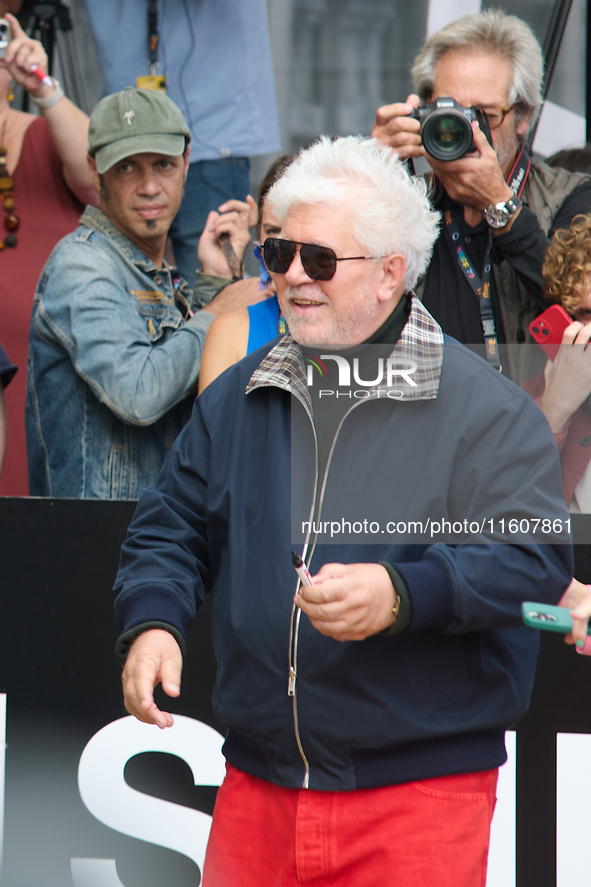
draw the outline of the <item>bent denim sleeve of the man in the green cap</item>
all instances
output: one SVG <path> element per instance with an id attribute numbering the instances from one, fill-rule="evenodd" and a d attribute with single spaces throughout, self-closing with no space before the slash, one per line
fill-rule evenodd
<path id="1" fill-rule="evenodd" d="M 126 268 L 108 250 L 70 241 L 54 251 L 40 282 L 38 334 L 64 348 L 78 375 L 118 418 L 151 425 L 195 386 L 213 315 L 182 323 L 175 307 L 150 337 Z"/>

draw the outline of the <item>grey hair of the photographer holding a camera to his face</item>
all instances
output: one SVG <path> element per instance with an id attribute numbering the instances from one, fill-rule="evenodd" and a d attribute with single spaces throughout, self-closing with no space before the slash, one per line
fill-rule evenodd
<path id="1" fill-rule="evenodd" d="M 448 52 L 471 49 L 499 55 L 509 63 L 511 80 L 508 102 L 509 105 L 517 105 L 515 114 L 518 120 L 529 114 L 529 132 L 542 104 L 542 50 L 529 25 L 501 9 L 465 15 L 429 37 L 412 66 L 412 79 L 419 98 L 425 102 L 431 101 L 435 67 L 442 56 Z"/>

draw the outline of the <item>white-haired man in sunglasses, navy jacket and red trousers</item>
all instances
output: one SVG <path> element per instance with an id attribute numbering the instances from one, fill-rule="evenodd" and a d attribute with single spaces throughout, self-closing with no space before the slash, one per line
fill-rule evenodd
<path id="1" fill-rule="evenodd" d="M 552 435 L 413 295 L 439 216 L 392 152 L 323 138 L 268 199 L 290 332 L 212 382 L 140 499 L 125 704 L 172 725 L 154 687 L 179 695 L 211 591 L 227 775 L 204 883 L 482 887 L 535 670 L 521 603 L 571 576 Z M 514 544 L 516 517 L 555 535 Z"/>

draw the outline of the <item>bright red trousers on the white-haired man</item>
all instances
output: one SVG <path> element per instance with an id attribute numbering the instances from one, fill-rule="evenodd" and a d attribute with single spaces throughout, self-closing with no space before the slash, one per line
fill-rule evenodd
<path id="1" fill-rule="evenodd" d="M 321 792 L 227 765 L 203 887 L 484 887 L 497 771 Z"/>

